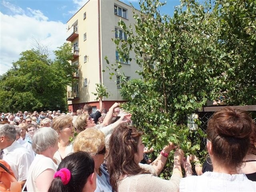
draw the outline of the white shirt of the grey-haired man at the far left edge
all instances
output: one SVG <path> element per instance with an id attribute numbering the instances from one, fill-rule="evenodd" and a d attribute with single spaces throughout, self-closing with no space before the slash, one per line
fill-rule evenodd
<path id="1" fill-rule="evenodd" d="M 24 146 L 15 140 L 10 146 L 4 149 L 2 159 L 10 165 L 18 181 L 27 179 L 28 168 L 32 160 L 28 150 Z"/>

